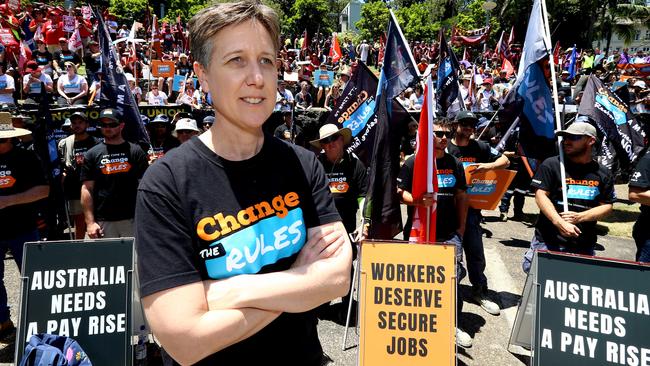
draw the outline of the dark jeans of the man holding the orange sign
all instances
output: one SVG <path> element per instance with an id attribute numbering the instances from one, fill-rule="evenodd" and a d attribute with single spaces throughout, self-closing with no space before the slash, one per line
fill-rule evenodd
<path id="1" fill-rule="evenodd" d="M 483 229 L 481 228 L 481 210 L 470 208 L 467 210 L 467 224 L 463 249 L 469 282 L 481 292 L 487 291 L 487 277 L 485 277 L 485 252 L 483 251 Z"/>

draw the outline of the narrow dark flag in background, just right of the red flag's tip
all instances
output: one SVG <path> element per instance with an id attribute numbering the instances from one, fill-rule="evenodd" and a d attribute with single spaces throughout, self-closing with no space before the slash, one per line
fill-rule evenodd
<path id="1" fill-rule="evenodd" d="M 438 113 L 447 115 L 447 110 L 458 99 L 458 60 L 440 31 L 440 55 L 438 56 L 438 74 L 436 79 L 436 104 Z"/>

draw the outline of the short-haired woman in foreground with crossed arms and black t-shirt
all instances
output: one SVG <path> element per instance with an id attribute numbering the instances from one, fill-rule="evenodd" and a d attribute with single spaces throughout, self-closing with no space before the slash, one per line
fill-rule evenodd
<path id="1" fill-rule="evenodd" d="M 262 129 L 277 93 L 277 14 L 215 4 L 189 29 L 216 118 L 140 185 L 147 321 L 179 364 L 321 365 L 310 310 L 347 293 L 351 245 L 316 156 Z"/>

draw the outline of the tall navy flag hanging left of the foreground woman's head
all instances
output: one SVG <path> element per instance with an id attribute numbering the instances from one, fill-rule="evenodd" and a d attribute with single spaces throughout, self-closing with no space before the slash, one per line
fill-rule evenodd
<path id="1" fill-rule="evenodd" d="M 124 122 L 122 137 L 125 140 L 148 144 L 149 135 L 144 128 L 138 105 L 131 93 L 129 83 L 126 81 L 126 75 L 124 75 L 120 66 L 104 18 L 97 9 L 95 9 L 95 17 L 97 17 L 99 23 L 97 32 L 99 33 L 99 46 L 102 50 L 101 71 L 104 73 L 102 94 L 109 101 L 104 107 L 115 108 L 119 112 L 120 119 Z"/>

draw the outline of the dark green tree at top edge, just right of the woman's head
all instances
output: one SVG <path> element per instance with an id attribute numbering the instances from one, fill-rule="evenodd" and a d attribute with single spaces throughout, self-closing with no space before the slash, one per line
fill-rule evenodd
<path id="1" fill-rule="evenodd" d="M 335 29 L 334 18 L 329 17 L 330 7 L 326 0 L 296 0 L 291 7 L 291 14 L 287 19 L 287 27 L 294 34 L 302 33 L 305 29 L 310 35 L 317 31 L 328 34 Z"/>

